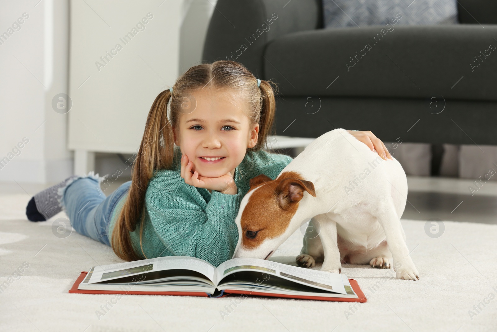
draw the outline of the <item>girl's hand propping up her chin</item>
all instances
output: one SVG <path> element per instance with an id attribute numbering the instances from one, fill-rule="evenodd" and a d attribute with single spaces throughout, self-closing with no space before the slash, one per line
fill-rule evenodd
<path id="1" fill-rule="evenodd" d="M 188 160 L 186 154 L 181 156 L 181 177 L 185 183 L 197 188 L 216 190 L 222 194 L 236 195 L 238 193 L 237 185 L 230 172 L 218 178 L 207 178 L 198 175 L 198 172 L 191 172 L 193 162 Z"/>

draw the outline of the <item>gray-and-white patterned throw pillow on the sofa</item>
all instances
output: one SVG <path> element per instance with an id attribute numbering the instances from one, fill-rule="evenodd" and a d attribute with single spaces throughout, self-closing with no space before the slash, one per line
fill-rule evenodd
<path id="1" fill-rule="evenodd" d="M 400 15 L 399 15 L 400 14 Z M 385 25 L 453 24 L 457 0 L 323 0 L 325 28 Z"/>

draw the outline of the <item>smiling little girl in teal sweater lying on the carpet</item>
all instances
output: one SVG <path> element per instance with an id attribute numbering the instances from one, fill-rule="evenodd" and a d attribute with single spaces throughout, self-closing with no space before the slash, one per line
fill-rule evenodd
<path id="1" fill-rule="evenodd" d="M 28 219 L 64 209 L 77 232 L 125 260 L 185 255 L 218 266 L 231 259 L 250 179 L 275 179 L 292 160 L 262 150 L 275 114 L 270 83 L 234 61 L 188 69 L 155 99 L 131 181 L 105 197 L 103 178 L 70 177 L 37 193 Z M 350 133 L 390 156 L 370 131 Z"/>

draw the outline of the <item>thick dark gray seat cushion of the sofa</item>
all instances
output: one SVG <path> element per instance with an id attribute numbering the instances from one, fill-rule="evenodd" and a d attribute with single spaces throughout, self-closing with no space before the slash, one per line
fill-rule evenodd
<path id="1" fill-rule="evenodd" d="M 497 25 L 301 31 L 268 43 L 264 78 L 282 96 L 497 101 Z"/>

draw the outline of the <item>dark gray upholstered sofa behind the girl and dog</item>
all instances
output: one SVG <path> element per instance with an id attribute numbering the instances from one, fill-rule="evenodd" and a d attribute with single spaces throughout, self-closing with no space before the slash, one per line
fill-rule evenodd
<path id="1" fill-rule="evenodd" d="M 390 142 L 497 145 L 497 1 L 458 2 L 461 24 L 395 26 L 375 39 L 384 26 L 324 29 L 320 0 L 219 0 L 202 60 L 232 59 L 276 82 L 279 135 L 342 127 Z"/>

